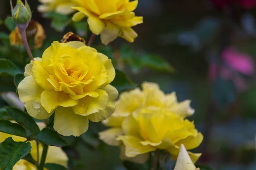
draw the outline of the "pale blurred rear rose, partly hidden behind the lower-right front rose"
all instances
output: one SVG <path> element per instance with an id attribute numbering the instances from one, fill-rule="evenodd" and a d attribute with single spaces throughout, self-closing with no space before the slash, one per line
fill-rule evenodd
<path id="1" fill-rule="evenodd" d="M 190 102 L 190 100 L 177 102 L 175 92 L 165 95 L 156 83 L 144 82 L 142 90 L 136 88 L 120 95 L 116 101 L 116 111 L 104 121 L 104 124 L 111 127 L 121 127 L 125 117 L 140 110 L 162 111 L 166 114 L 175 113 L 185 118 L 195 112 L 190 107 Z"/>

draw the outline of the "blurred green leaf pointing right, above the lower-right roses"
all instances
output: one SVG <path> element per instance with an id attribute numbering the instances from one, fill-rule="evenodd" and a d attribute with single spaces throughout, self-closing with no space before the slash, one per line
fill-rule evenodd
<path id="1" fill-rule="evenodd" d="M 156 71 L 172 73 L 175 69 L 161 56 L 145 54 L 141 57 L 142 66 Z"/>

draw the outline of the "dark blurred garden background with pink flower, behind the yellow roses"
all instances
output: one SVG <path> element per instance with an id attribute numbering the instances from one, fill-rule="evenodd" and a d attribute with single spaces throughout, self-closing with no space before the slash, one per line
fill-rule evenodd
<path id="1" fill-rule="evenodd" d="M 38 1 L 27 1 L 32 19 L 43 25 L 47 35 L 43 47 L 34 51 L 36 57 L 68 31 L 88 40 L 86 27 L 67 26 L 56 31 L 62 25 L 57 22 L 52 28 L 52 20 L 36 10 Z M 134 27 L 139 35 L 135 42 L 118 38 L 110 44 L 111 49 L 101 47 L 114 52 L 117 67 L 138 85 L 157 82 L 166 93 L 176 91 L 179 101 L 192 100 L 195 114 L 189 119 L 204 134 L 203 143 L 194 152 L 203 153 L 198 163 L 214 170 L 256 169 L 255 4 L 255 0 L 139 0 L 135 12 L 144 17 L 144 23 Z M 0 20 L 8 15 L 9 0 L 1 0 Z M 0 32 L 0 57 L 20 63 L 26 51 L 6 45 L 10 31 L 4 24 Z M 94 45 L 99 43 L 96 37 Z M 163 63 L 157 69 L 157 56 L 166 59 L 175 71 L 166 71 Z M 27 62 L 17 65 L 23 69 Z M 12 77 L 2 75 L 0 81 L 0 92 L 15 91 Z M 0 105 L 6 103 L 0 100 Z M 97 139 L 97 132 L 104 129 L 91 123 L 88 133 L 64 147 L 71 170 L 124 169 L 118 148 Z"/>

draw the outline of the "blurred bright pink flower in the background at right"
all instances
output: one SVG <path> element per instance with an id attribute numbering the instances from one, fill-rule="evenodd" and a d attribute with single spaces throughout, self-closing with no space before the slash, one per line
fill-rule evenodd
<path id="1" fill-rule="evenodd" d="M 255 73 L 254 61 L 247 54 L 242 54 L 233 48 L 226 48 L 221 58 L 230 68 L 242 74 L 251 76 Z"/>

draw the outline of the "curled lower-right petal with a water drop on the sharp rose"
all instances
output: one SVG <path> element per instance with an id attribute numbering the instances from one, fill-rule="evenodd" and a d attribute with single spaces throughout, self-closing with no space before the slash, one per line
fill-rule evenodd
<path id="1" fill-rule="evenodd" d="M 108 103 L 108 94 L 106 91 L 101 89 L 96 90 L 96 92 L 99 94 L 97 98 L 85 96 L 84 98 L 79 99 L 78 105 L 72 108 L 74 113 L 82 116 L 88 116 L 104 110 Z"/>

